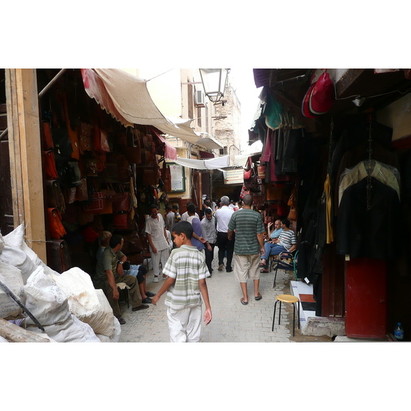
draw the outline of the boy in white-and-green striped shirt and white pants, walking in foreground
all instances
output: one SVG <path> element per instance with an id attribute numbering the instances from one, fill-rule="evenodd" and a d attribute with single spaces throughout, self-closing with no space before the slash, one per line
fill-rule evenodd
<path id="1" fill-rule="evenodd" d="M 206 277 L 208 269 L 203 253 L 191 244 L 193 229 L 188 221 L 180 221 L 173 227 L 176 249 L 171 251 L 163 273 L 168 275 L 152 303 L 166 292 L 171 343 L 198 343 L 201 336 L 201 305 L 206 304 L 204 321 L 212 320 Z M 203 297 L 203 301 L 201 299 Z"/>

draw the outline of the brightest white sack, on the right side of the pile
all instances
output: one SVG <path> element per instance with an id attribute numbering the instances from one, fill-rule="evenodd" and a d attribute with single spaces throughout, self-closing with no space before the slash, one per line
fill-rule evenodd
<path id="1" fill-rule="evenodd" d="M 69 299 L 69 309 L 79 319 L 97 314 L 101 308 L 99 297 L 92 285 L 90 275 L 79 267 L 64 271 L 61 275 L 51 275 L 55 283 Z"/>

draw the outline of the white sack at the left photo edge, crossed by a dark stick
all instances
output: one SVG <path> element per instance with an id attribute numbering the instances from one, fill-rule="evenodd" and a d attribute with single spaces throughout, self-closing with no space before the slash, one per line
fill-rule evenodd
<path id="1" fill-rule="evenodd" d="M 0 280 L 20 298 L 21 303 L 25 303 L 23 277 L 19 269 L 0 260 Z M 0 318 L 14 320 L 22 317 L 23 309 L 0 286 Z"/>

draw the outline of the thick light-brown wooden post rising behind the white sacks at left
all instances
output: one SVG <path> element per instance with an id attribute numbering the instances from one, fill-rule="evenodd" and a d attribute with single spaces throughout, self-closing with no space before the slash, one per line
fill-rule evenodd
<path id="1" fill-rule="evenodd" d="M 36 69 L 6 69 L 5 83 L 14 227 L 25 224 L 28 245 L 47 264 Z"/>

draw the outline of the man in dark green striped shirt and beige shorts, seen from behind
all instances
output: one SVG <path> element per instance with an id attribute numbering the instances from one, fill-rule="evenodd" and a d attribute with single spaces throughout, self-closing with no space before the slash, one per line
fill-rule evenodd
<path id="1" fill-rule="evenodd" d="M 242 199 L 244 206 L 234 212 L 228 223 L 228 239 L 231 240 L 234 230 L 234 277 L 240 283 L 242 290 L 242 305 L 247 306 L 247 279 L 254 282 L 254 299 L 262 299 L 260 291 L 260 257 L 264 253 L 265 232 L 261 214 L 252 210 L 253 196 L 245 195 Z"/>

